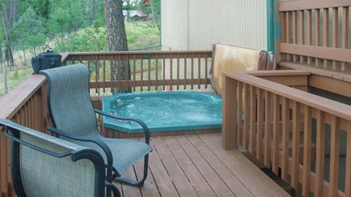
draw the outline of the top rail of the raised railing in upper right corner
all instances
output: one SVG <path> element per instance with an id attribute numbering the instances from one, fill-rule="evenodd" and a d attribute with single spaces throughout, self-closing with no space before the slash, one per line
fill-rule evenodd
<path id="1" fill-rule="evenodd" d="M 291 0 L 279 1 L 278 11 L 302 11 L 319 8 L 350 6 L 349 0 Z"/>

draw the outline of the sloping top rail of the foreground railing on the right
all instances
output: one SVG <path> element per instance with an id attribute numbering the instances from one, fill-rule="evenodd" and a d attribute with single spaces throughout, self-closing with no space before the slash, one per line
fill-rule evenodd
<path id="1" fill-rule="evenodd" d="M 319 109 L 329 114 L 333 114 L 340 118 L 344 118 L 347 121 L 351 121 L 351 106 L 347 104 L 329 100 L 318 95 L 312 95 L 311 93 L 297 90 L 289 86 L 284 86 L 279 83 L 260 79 L 259 77 L 253 76 L 246 72 L 223 72 L 223 74 L 232 79 L 242 81 L 263 90 L 268 90 L 271 93 L 287 97 L 291 100 L 296 100 L 297 102 L 306 104 L 307 106 Z"/>

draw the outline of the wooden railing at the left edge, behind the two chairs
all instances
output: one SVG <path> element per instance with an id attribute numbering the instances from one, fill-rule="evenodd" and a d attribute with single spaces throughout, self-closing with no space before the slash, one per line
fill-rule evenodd
<path id="1" fill-rule="evenodd" d="M 50 122 L 46 78 L 34 74 L 0 99 L 0 118 L 46 133 Z M 11 177 L 11 140 L 0 131 L 0 196 L 15 196 Z"/>

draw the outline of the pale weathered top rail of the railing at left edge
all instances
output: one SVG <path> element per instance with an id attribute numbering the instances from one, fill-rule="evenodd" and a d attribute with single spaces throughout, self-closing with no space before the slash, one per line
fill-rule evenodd
<path id="1" fill-rule="evenodd" d="M 0 118 L 12 118 L 30 97 L 45 83 L 41 74 L 33 74 L 0 98 Z"/>

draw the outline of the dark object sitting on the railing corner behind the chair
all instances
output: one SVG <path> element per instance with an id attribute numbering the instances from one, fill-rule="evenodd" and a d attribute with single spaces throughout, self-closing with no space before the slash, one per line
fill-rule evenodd
<path id="1" fill-rule="evenodd" d="M 40 70 L 51 69 L 61 66 L 61 55 L 53 52 L 53 50 L 47 50 L 44 53 L 40 53 L 37 57 L 32 57 L 32 67 L 34 74 L 38 74 Z"/>

